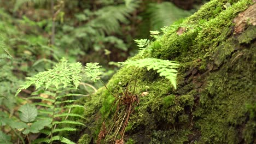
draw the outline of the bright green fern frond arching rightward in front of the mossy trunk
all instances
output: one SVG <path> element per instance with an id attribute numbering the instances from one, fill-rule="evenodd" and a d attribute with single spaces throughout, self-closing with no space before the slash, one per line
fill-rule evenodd
<path id="1" fill-rule="evenodd" d="M 135 66 L 139 68 L 146 67 L 147 70 L 153 69 L 157 70 L 156 72 L 159 73 L 160 76 L 164 76 L 166 79 L 170 80 L 172 86 L 176 89 L 177 88 L 177 68 L 179 64 L 174 61 L 156 59 L 156 58 L 145 58 L 145 59 L 138 59 L 136 61 L 127 60 L 125 62 L 121 62 L 123 65 L 127 65 L 127 67 Z"/>

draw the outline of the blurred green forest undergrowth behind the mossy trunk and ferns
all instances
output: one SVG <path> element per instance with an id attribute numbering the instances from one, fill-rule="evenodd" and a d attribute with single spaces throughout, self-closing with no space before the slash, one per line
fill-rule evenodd
<path id="1" fill-rule="evenodd" d="M 0 1 L 0 109 L 15 115 L 14 97 L 24 78 L 69 62 L 99 62 L 107 81 L 117 63 L 137 52 L 133 39 L 193 14 L 201 0 L 9 0 Z M 86 77 L 84 82 L 91 84 Z M 94 84 L 98 88 L 99 83 Z M 95 89 L 80 86 L 80 93 Z M 1 125 L 1 122 L 0 122 Z M 2 128 L 2 131 L 8 129 Z"/>

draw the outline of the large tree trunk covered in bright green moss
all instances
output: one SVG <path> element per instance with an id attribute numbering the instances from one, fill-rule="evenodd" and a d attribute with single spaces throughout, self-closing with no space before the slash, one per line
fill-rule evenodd
<path id="1" fill-rule="evenodd" d="M 177 90 L 155 71 L 141 69 L 132 77 L 135 68 L 121 68 L 107 86 L 119 97 L 126 87 L 130 95 L 135 87 L 124 141 L 120 134 L 127 105 L 118 106 L 101 88 L 80 101 L 88 128 L 79 143 L 256 143 L 254 3 L 211 1 L 164 29 L 132 59 L 179 62 Z"/>

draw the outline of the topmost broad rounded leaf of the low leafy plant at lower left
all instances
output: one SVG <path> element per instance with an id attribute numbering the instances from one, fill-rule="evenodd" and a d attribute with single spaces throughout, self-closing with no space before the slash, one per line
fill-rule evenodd
<path id="1" fill-rule="evenodd" d="M 37 117 L 37 108 L 34 105 L 25 104 L 22 105 L 19 109 L 20 113 L 20 119 L 23 122 L 29 123 L 33 122 L 34 119 Z"/>

